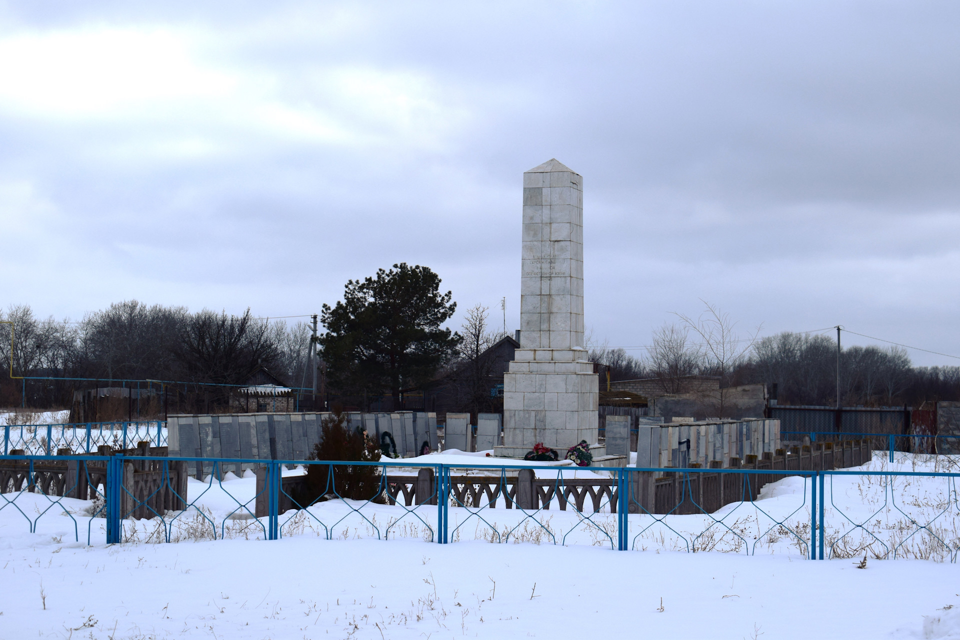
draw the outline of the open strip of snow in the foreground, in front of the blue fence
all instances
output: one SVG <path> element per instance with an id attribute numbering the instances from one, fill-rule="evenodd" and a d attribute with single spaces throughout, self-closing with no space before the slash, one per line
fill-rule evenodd
<path id="1" fill-rule="evenodd" d="M 957 566 L 924 560 L 299 536 L 0 561 L 4 639 L 960 637 Z"/>

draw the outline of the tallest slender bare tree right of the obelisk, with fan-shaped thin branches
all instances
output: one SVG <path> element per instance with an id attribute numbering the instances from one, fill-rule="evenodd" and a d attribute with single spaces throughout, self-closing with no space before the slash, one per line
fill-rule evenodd
<path id="1" fill-rule="evenodd" d="M 733 371 L 747 361 L 748 354 L 756 344 L 760 327 L 745 338 L 735 332 L 736 322 L 730 314 L 720 310 L 714 304 L 701 300 L 707 309 L 693 320 L 684 314 L 676 314 L 684 328 L 693 333 L 700 341 L 704 357 L 705 370 L 720 378 L 720 389 L 715 392 L 715 403 L 720 417 L 727 414 L 728 396 Z"/>

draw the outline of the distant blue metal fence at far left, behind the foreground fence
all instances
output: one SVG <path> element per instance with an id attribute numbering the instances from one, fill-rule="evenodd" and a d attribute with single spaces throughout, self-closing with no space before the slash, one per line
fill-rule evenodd
<path id="1" fill-rule="evenodd" d="M 3 427 L 3 455 L 13 450 L 49 456 L 58 449 L 74 453 L 95 453 L 98 446 L 129 449 L 141 441 L 151 446 L 166 446 L 167 429 L 163 420 L 78 422 L 64 424 L 8 424 Z"/>

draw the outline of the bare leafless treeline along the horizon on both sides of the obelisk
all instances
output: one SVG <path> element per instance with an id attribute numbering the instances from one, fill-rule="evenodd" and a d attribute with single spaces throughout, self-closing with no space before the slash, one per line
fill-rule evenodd
<path id="1" fill-rule="evenodd" d="M 14 375 L 240 385 L 259 367 L 266 367 L 291 387 L 309 387 L 312 382 L 306 371 L 309 326 L 253 318 L 250 310 L 234 316 L 130 300 L 79 321 L 40 320 L 26 305 L 0 312 L 0 320 L 14 322 Z M 590 358 L 609 367 L 614 381 L 660 378 L 664 392 L 678 391 L 684 375 L 701 374 L 719 376 L 723 386 L 764 383 L 773 391 L 776 384 L 780 404 L 836 402 L 832 337 L 783 332 L 736 339 L 731 326 L 717 312 L 707 323 L 664 325 L 654 332 L 641 357 L 622 348 L 594 346 Z M 10 330 L 10 324 L 0 324 L 0 362 L 5 367 L 10 366 Z M 464 331 L 469 335 L 467 324 Z M 920 407 L 928 401 L 960 400 L 960 367 L 914 367 L 898 346 L 843 349 L 840 383 L 845 406 Z M 72 391 L 92 385 L 34 381 L 26 388 L 27 403 L 69 406 Z M 18 405 L 22 389 L 19 380 L 0 375 L 0 406 Z"/>

